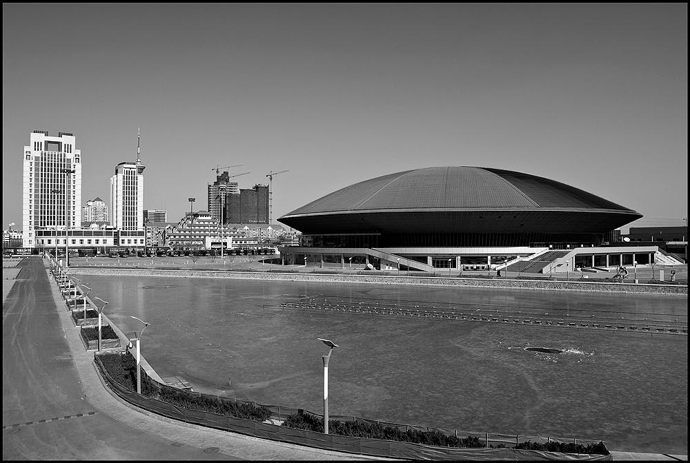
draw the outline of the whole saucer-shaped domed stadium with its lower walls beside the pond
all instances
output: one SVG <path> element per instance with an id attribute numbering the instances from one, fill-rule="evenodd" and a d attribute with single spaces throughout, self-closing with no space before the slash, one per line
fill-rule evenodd
<path id="1" fill-rule="evenodd" d="M 428 270 L 435 260 L 453 257 L 460 265 L 460 253 L 490 261 L 491 254 L 600 246 L 614 229 L 640 217 L 549 178 L 489 167 L 428 167 L 355 183 L 278 220 L 302 231 L 305 256 L 340 248 L 343 256 L 346 249 L 386 263 L 404 258 Z"/>

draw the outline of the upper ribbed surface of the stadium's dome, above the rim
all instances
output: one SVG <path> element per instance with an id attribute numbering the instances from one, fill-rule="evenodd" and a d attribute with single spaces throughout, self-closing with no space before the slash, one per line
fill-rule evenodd
<path id="1" fill-rule="evenodd" d="M 287 216 L 381 209 L 614 209 L 609 200 L 548 178 L 486 167 L 428 167 L 371 178 Z"/>

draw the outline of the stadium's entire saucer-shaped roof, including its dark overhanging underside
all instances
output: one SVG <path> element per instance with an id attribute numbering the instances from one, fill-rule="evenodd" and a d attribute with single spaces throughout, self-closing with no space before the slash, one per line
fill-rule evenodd
<path id="1" fill-rule="evenodd" d="M 303 233 L 606 233 L 641 214 L 549 178 L 427 167 L 371 178 L 278 220 Z"/>

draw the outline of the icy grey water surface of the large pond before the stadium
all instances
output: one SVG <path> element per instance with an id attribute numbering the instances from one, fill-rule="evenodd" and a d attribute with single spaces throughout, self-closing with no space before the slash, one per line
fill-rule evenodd
<path id="1" fill-rule="evenodd" d="M 327 338 L 339 344 L 329 364 L 333 415 L 603 439 L 613 450 L 687 455 L 687 336 L 555 322 L 687 327 L 684 297 L 213 278 L 86 281 L 91 296 L 110 302 L 106 313 L 123 331 L 140 328 L 130 315 L 151 323 L 144 357 L 159 375 L 181 375 L 195 391 L 322 413 L 321 356 L 328 348 L 316 338 Z M 364 313 L 366 307 L 382 313 Z M 394 309 L 468 319 L 388 315 Z"/>

